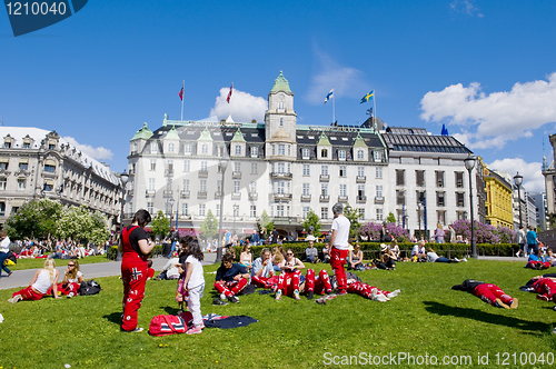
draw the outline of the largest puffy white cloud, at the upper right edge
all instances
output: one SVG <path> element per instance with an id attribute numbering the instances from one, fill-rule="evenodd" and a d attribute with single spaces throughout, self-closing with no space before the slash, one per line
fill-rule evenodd
<path id="1" fill-rule="evenodd" d="M 469 148 L 502 148 L 556 122 L 556 72 L 547 81 L 517 82 L 510 91 L 490 94 L 481 92 L 478 82 L 451 84 L 427 92 L 420 104 L 421 119 L 460 126 L 458 139 Z"/>

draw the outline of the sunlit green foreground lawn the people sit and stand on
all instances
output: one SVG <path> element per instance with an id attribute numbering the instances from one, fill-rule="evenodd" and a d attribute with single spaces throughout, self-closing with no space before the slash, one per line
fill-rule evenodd
<path id="1" fill-rule="evenodd" d="M 6 300 L 16 290 L 2 290 L 0 311 L 6 320 L 0 326 L 0 367 L 321 368 L 325 352 L 330 352 L 328 358 L 338 356 L 337 360 L 360 352 L 427 353 L 440 360 L 444 356 L 470 356 L 473 367 L 499 367 L 496 352 L 516 352 L 517 360 L 520 352 L 537 357 L 555 353 L 556 335 L 550 331 L 556 312 L 552 305 L 518 290 L 536 271 L 515 262 L 477 260 L 399 263 L 397 269 L 358 272 L 365 282 L 381 289 L 401 289 L 389 302 L 348 295 L 320 306 L 305 297 L 275 301 L 269 295 L 255 292 L 241 296 L 238 305 L 214 307 L 215 275 L 207 272 L 216 266 L 205 267 L 202 313 L 248 315 L 259 322 L 229 330 L 205 329 L 191 337 L 120 332 L 122 287 L 118 277 L 98 278 L 103 288 L 100 295 L 73 299 L 11 305 Z M 497 309 L 450 289 L 466 278 L 500 286 L 519 299 L 519 308 Z M 176 313 L 175 291 L 175 281 L 148 281 L 139 326 L 148 329 L 153 316 Z M 477 365 L 478 352 L 488 352 L 488 366 Z M 397 367 L 408 365 L 398 362 Z M 536 367 L 552 366 L 537 362 Z"/>

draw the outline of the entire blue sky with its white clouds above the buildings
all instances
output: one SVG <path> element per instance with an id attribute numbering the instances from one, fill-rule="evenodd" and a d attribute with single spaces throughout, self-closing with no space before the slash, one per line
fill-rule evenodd
<path id="1" fill-rule="evenodd" d="M 13 37 L 0 9 L 0 120 L 56 130 L 127 168 L 143 122 L 264 121 L 280 70 L 299 124 L 443 123 L 492 169 L 544 191 L 554 160 L 556 1 L 89 1 Z M 231 107 L 226 97 L 234 83 Z"/>

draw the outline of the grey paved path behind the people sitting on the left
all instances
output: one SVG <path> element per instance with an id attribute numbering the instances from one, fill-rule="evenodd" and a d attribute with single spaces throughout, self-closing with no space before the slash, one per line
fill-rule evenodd
<path id="1" fill-rule="evenodd" d="M 205 260 L 202 265 L 211 265 L 215 263 L 216 253 L 205 253 Z M 155 258 L 152 259 L 152 268 L 155 270 L 162 270 L 165 265 L 168 262 L 167 258 Z M 83 273 L 86 279 L 99 278 L 99 277 L 110 277 L 110 276 L 119 276 L 120 271 L 120 261 L 108 261 L 108 262 L 98 262 L 98 263 L 86 263 L 79 266 L 81 272 Z M 68 267 L 58 267 L 56 269 L 59 270 L 60 276 L 63 276 L 63 271 Z M 16 270 L 10 276 L 10 278 L 6 278 L 6 273 L 2 272 L 2 278 L 0 278 L 0 290 L 17 288 L 17 287 L 27 287 L 31 279 L 33 278 L 37 269 L 27 269 L 27 270 Z M 61 280 L 61 279 L 60 279 Z"/>

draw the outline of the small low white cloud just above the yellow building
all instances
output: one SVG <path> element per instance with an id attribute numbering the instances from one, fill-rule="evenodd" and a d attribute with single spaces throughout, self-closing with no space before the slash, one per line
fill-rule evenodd
<path id="1" fill-rule="evenodd" d="M 545 177 L 542 173 L 540 162 L 526 162 L 520 158 L 506 158 L 495 160 L 487 167 L 500 172 L 507 172 L 512 178 L 519 172 L 523 176 L 523 187 L 528 192 L 545 191 Z"/>

